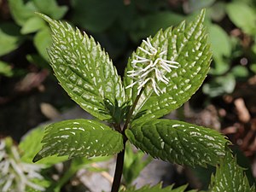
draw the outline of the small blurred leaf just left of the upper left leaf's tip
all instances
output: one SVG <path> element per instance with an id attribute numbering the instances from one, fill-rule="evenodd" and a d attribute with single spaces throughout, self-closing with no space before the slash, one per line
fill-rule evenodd
<path id="1" fill-rule="evenodd" d="M 28 34 L 31 32 L 37 32 L 42 27 L 45 27 L 45 22 L 41 18 L 38 17 L 32 17 L 24 23 L 22 26 L 20 32 L 22 34 Z"/>

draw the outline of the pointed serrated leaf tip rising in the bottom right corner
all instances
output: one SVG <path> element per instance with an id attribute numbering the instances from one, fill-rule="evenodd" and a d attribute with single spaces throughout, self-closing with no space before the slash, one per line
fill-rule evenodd
<path id="1" fill-rule="evenodd" d="M 211 192 L 254 192 L 255 185 L 250 187 L 247 177 L 244 175 L 244 169 L 236 164 L 230 151 L 227 151 L 220 165 L 217 167 L 215 176 L 212 175 L 212 181 L 209 186 Z"/>

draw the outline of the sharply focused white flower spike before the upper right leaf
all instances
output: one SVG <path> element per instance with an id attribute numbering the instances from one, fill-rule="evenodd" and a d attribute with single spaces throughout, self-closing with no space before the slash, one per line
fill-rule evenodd
<path id="1" fill-rule="evenodd" d="M 155 94 L 160 96 L 165 91 L 161 90 L 157 83 L 161 81 L 168 84 L 169 79 L 166 78 L 165 74 L 172 72 L 172 68 L 178 68 L 179 63 L 164 59 L 163 57 L 167 51 L 154 48 L 149 38 L 147 38 L 147 41 L 143 40 L 143 43 L 146 45 L 145 48 L 138 47 L 138 49 L 142 50 L 146 57 L 135 55 L 136 59 L 131 61 L 133 70 L 128 71 L 127 76 L 135 81 L 126 86 L 125 89 L 137 84 L 137 94 L 139 94 L 140 90 L 151 82 L 150 85 L 153 87 Z"/>

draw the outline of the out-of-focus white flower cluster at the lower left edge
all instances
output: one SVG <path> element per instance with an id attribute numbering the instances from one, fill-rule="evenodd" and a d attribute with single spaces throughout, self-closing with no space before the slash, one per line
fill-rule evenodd
<path id="1" fill-rule="evenodd" d="M 26 187 L 44 191 L 42 186 L 32 183 L 32 179 L 43 179 L 40 175 L 43 166 L 27 164 L 20 160 L 17 148 L 10 138 L 0 139 L 0 191 L 25 192 Z"/>

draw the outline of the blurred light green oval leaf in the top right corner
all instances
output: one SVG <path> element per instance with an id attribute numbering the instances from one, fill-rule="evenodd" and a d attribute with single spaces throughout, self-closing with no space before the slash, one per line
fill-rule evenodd
<path id="1" fill-rule="evenodd" d="M 233 2 L 227 5 L 227 14 L 232 22 L 248 34 L 256 34 L 256 13 L 253 7 L 246 3 Z"/>

